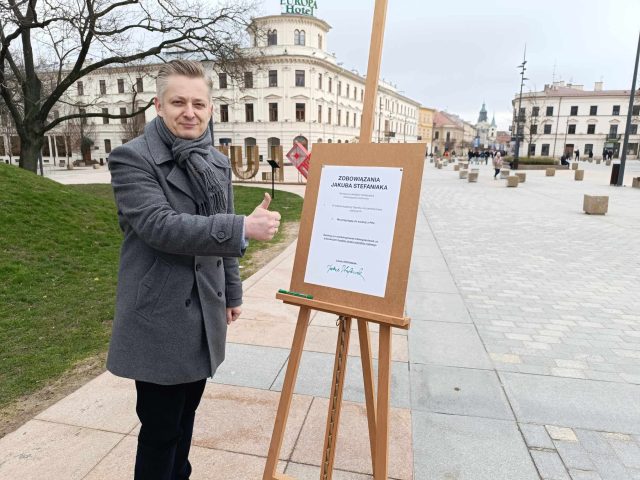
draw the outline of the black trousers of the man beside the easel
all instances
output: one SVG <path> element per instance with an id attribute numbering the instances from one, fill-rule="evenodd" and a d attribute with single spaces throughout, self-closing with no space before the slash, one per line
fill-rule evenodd
<path id="1" fill-rule="evenodd" d="M 188 480 L 193 420 L 206 380 L 179 385 L 136 381 L 138 436 L 135 480 Z"/>

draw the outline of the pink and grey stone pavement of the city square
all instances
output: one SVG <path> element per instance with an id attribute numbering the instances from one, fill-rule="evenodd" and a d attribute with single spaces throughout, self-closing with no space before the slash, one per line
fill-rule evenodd
<path id="1" fill-rule="evenodd" d="M 490 166 L 469 183 L 426 163 L 412 324 L 393 336 L 390 478 L 640 479 L 640 189 L 580 166 L 582 182 L 539 170 L 507 188 Z M 104 170 L 72 180 L 99 175 L 108 181 Z M 627 185 L 632 176 L 637 161 Z M 606 216 L 582 212 L 585 193 L 609 196 Z M 242 320 L 198 410 L 194 480 L 261 478 L 297 318 L 274 295 L 294 252 L 245 282 Z M 312 316 L 291 406 L 279 471 L 300 480 L 319 478 L 335 321 Z M 336 480 L 371 478 L 351 338 Z M 131 381 L 99 376 L 0 439 L 0 479 L 132 478 L 134 407 Z"/>

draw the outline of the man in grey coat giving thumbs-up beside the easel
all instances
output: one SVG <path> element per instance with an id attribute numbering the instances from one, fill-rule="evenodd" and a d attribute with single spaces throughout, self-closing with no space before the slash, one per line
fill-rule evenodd
<path id="1" fill-rule="evenodd" d="M 280 215 L 235 215 L 231 168 L 212 146 L 211 80 L 198 62 L 158 73 L 158 113 L 109 157 L 124 234 L 107 368 L 136 381 L 136 480 L 185 480 L 195 412 L 241 313 L 238 257 Z"/>

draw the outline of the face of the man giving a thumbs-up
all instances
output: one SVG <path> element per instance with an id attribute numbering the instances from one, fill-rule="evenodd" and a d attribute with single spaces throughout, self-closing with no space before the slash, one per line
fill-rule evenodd
<path id="1" fill-rule="evenodd" d="M 179 138 L 193 140 L 207 129 L 213 105 L 202 78 L 171 75 L 162 98 L 155 98 L 158 115 Z"/>

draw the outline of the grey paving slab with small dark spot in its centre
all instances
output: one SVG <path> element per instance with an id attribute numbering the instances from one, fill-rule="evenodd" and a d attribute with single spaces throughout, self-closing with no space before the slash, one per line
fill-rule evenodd
<path id="1" fill-rule="evenodd" d="M 513 420 L 495 372 L 414 364 L 412 410 Z"/>

